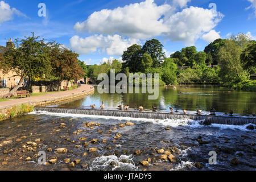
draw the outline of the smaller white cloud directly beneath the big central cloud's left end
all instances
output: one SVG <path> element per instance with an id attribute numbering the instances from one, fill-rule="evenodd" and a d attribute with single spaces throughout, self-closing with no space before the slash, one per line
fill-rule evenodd
<path id="1" fill-rule="evenodd" d="M 70 43 L 73 50 L 80 54 L 100 51 L 106 52 L 108 55 L 121 56 L 127 47 L 139 43 L 139 40 L 124 39 L 117 34 L 113 36 L 92 35 L 87 38 L 80 38 L 76 35 L 70 39 Z"/>

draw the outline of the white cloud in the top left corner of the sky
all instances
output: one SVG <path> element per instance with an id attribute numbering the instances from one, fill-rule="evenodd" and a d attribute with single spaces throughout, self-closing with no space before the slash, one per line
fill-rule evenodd
<path id="1" fill-rule="evenodd" d="M 11 8 L 9 4 L 4 1 L 0 1 L 0 24 L 13 19 L 14 15 L 24 16 L 19 10 L 16 10 L 14 7 Z"/>

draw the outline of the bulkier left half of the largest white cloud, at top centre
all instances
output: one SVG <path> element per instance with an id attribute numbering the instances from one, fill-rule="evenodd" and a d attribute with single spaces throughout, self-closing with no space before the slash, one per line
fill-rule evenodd
<path id="1" fill-rule="evenodd" d="M 98 34 L 121 34 L 132 38 L 148 39 L 168 31 L 161 18 L 171 10 L 170 5 L 158 6 L 154 0 L 146 0 L 114 10 L 96 11 L 84 22 L 77 22 L 75 30 Z"/>

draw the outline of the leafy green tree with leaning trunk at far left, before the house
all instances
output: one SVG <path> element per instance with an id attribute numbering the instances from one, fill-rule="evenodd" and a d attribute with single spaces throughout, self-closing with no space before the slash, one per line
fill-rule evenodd
<path id="1" fill-rule="evenodd" d="M 20 77 L 16 85 L 2 98 L 10 98 L 22 86 L 24 78 L 43 78 L 51 71 L 51 61 L 47 53 L 48 45 L 44 39 L 32 36 L 26 39 L 16 39 L 15 48 L 9 48 L 0 62 L 0 69 L 7 73 L 14 71 Z"/>

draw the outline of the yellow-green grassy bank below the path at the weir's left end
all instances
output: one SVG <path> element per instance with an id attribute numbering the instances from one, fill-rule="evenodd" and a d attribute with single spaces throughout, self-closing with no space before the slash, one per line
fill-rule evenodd
<path id="1" fill-rule="evenodd" d="M 6 114 L 0 114 L 0 121 L 9 119 L 9 118 L 18 117 L 20 115 L 30 113 L 33 110 L 34 110 L 34 106 L 27 105 L 27 104 L 13 106 L 7 110 Z"/>

